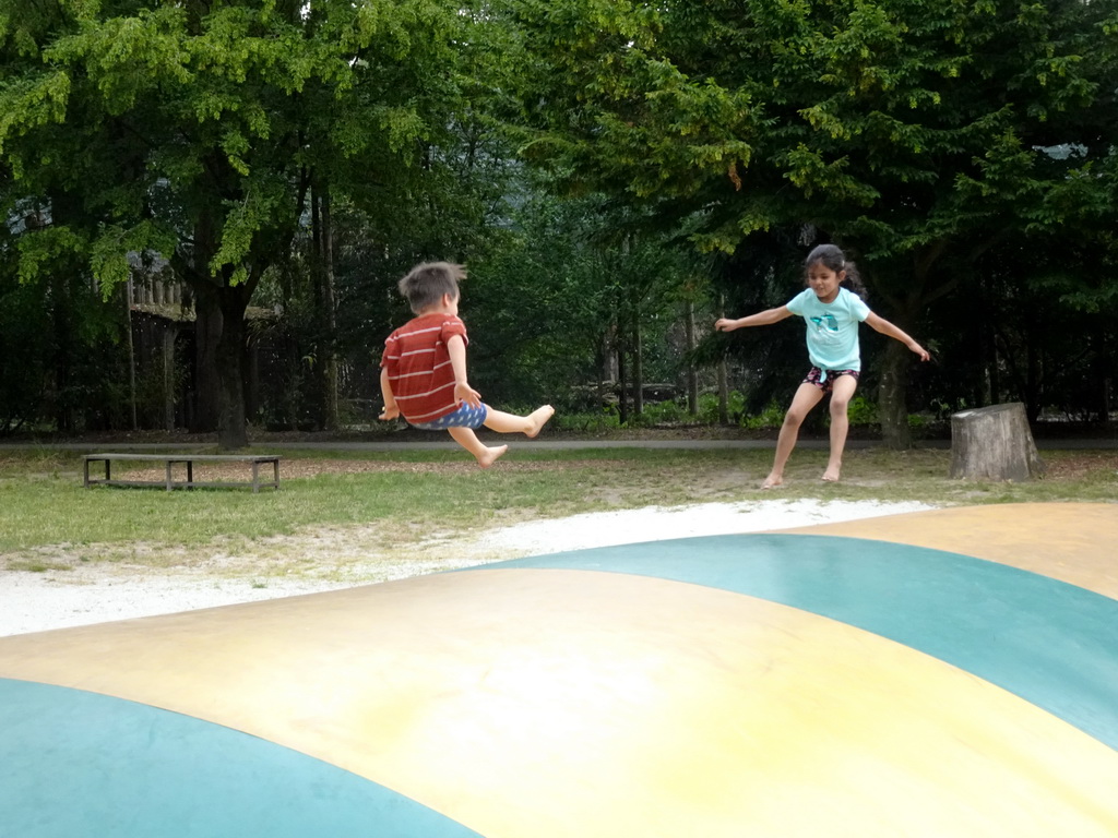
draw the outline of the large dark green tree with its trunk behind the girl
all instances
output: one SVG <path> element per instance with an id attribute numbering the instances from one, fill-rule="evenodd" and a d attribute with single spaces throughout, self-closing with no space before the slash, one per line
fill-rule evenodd
<path id="1" fill-rule="evenodd" d="M 1112 0 L 506 8 L 528 67 L 527 159 L 569 189 L 701 218 L 709 250 L 814 230 L 860 260 L 907 331 L 959 293 L 953 263 L 1059 229 L 1070 182 L 1114 189 Z M 907 364 L 890 344 L 880 409 L 896 446 Z"/>

